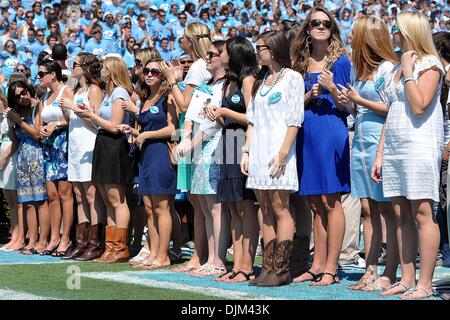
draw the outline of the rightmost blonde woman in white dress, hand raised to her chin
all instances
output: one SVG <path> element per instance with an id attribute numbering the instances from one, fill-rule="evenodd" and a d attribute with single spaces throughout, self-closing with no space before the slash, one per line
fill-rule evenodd
<path id="1" fill-rule="evenodd" d="M 404 53 L 386 88 L 389 112 L 372 177 L 379 182 L 382 169 L 384 196 L 391 198 L 397 218 L 402 276 L 381 294 L 403 293 L 402 299 L 420 299 L 433 294 L 440 238 L 433 204 L 439 201 L 444 139 L 439 96 L 444 70 L 428 19 L 406 12 L 397 22 Z M 420 276 L 416 284 L 418 246 Z"/>

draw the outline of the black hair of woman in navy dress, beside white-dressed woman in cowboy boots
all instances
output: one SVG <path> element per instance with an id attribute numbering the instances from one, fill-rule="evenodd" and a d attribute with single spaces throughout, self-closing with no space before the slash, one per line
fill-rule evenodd
<path id="1" fill-rule="evenodd" d="M 226 48 L 229 56 L 227 82 L 235 81 L 241 89 L 244 78 L 258 74 L 255 49 L 250 41 L 242 37 L 228 39 Z"/>

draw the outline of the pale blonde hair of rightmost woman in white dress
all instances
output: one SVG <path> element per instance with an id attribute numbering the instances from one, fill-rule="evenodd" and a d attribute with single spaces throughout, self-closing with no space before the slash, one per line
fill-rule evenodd
<path id="1" fill-rule="evenodd" d="M 404 52 L 413 50 L 419 59 L 426 55 L 439 58 L 425 15 L 419 12 L 402 12 L 397 16 L 397 24 L 404 39 Z"/>

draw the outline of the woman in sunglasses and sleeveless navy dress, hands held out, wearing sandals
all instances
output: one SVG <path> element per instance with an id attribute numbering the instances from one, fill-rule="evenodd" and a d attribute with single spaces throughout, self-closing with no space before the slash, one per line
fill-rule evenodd
<path id="1" fill-rule="evenodd" d="M 168 255 L 172 233 L 171 205 L 177 190 L 176 167 L 170 161 L 167 142 L 177 128 L 175 102 L 168 96 L 167 81 L 161 76 L 161 59 L 150 59 L 144 67 L 142 109 L 137 117 L 140 131 L 121 125 L 121 131 L 136 137 L 140 149 L 139 189 L 149 215 L 150 256 L 141 269 L 157 269 L 170 265 Z"/>

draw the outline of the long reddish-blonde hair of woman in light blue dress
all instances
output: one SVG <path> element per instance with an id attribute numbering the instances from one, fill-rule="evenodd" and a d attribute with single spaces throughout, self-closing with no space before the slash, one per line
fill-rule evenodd
<path id="1" fill-rule="evenodd" d="M 357 80 L 369 80 L 383 61 L 397 63 L 388 28 L 384 21 L 375 17 L 364 16 L 356 21 L 352 50 Z"/>

